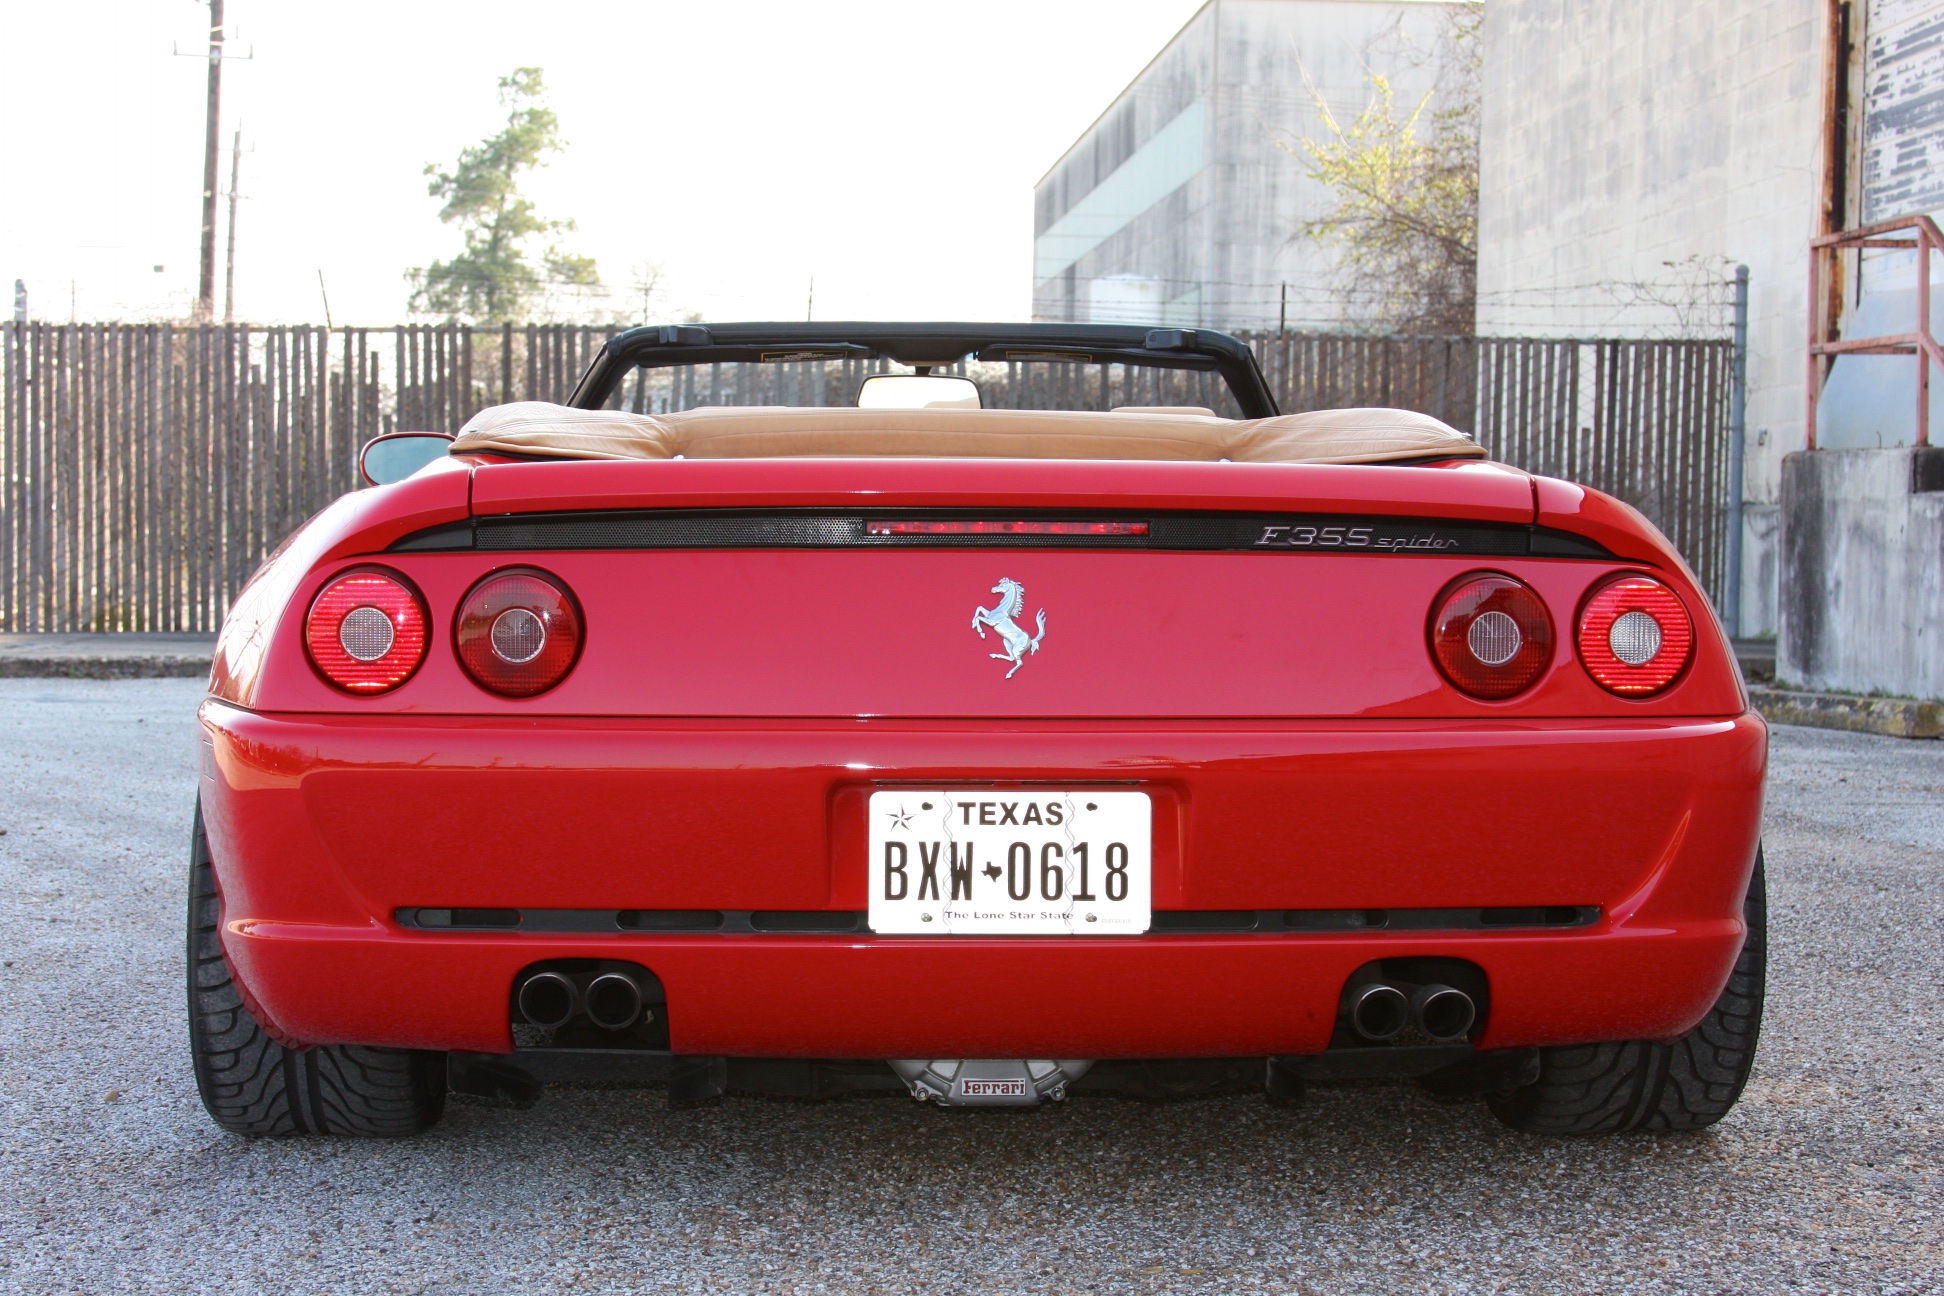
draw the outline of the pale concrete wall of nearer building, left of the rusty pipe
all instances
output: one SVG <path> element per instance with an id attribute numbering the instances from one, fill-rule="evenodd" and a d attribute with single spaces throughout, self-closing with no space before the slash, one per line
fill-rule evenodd
<path id="1" fill-rule="evenodd" d="M 1742 631 L 1775 628 L 1775 499 L 1804 445 L 1823 0 L 1489 0 L 1489 334 L 1720 336 L 1750 266 Z M 1668 262 L 1674 262 L 1672 266 Z"/>

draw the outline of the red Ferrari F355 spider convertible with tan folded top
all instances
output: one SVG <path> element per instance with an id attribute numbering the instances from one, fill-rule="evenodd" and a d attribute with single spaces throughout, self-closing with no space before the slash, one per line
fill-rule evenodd
<path id="1" fill-rule="evenodd" d="M 1742 1092 L 1767 733 L 1612 497 L 1079 324 L 638 328 L 364 464 L 200 711 L 226 1129 L 577 1078 L 1398 1076 L 1577 1135 Z"/>

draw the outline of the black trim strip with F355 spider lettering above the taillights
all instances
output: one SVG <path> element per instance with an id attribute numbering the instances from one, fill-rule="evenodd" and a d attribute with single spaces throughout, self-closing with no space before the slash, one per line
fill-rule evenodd
<path id="1" fill-rule="evenodd" d="M 1073 521 L 1145 523 L 1147 534 L 871 534 L 875 521 Z M 432 527 L 393 552 L 482 550 L 735 550 L 735 548 L 980 548 L 980 550 L 1188 550 L 1277 554 L 1454 554 L 1483 558 L 1598 558 L 1602 544 L 1522 523 L 1351 513 L 1098 513 L 1021 509 L 601 509 L 505 513 Z"/>

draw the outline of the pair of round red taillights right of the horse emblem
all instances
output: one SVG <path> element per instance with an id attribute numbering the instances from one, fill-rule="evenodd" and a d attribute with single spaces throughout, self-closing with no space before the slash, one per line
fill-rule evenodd
<path id="1" fill-rule="evenodd" d="M 1685 604 L 1647 575 L 1615 577 L 1580 608 L 1580 663 L 1619 698 L 1649 698 L 1674 684 L 1693 657 L 1693 641 Z M 1497 571 L 1460 577 L 1433 604 L 1431 655 L 1462 694 L 1487 701 L 1522 694 L 1551 665 L 1545 600 Z"/>

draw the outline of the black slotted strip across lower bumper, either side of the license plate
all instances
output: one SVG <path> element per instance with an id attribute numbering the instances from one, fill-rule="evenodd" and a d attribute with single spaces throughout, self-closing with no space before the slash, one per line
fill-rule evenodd
<path id="1" fill-rule="evenodd" d="M 861 909 L 399 909 L 416 931 L 533 935 L 869 935 Z M 1155 909 L 1149 935 L 1334 935 L 1396 931 L 1545 931 L 1590 927 L 1600 905 L 1485 909 Z"/>

